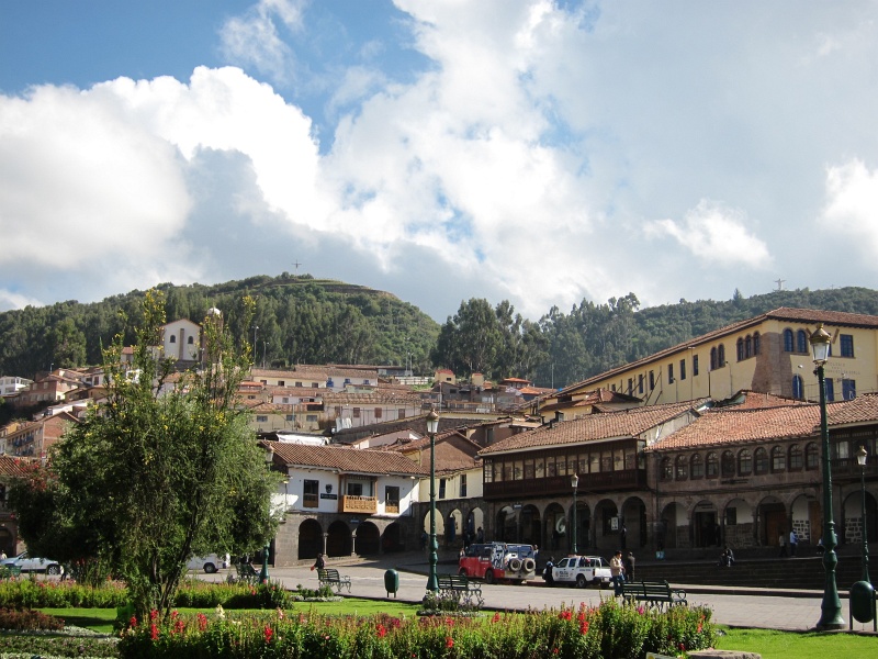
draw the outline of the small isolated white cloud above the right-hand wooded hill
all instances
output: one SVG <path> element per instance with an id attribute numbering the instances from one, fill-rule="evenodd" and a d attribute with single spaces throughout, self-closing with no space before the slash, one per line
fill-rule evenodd
<path id="1" fill-rule="evenodd" d="M 768 247 L 746 227 L 745 213 L 701 200 L 683 222 L 658 220 L 645 226 L 648 236 L 669 236 L 695 258 L 723 268 L 772 265 Z"/>

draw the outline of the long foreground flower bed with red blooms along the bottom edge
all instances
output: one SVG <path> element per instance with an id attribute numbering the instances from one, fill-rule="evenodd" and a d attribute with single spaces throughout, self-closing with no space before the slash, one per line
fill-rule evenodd
<path id="1" fill-rule="evenodd" d="M 712 647 L 710 610 L 645 610 L 607 600 L 581 605 L 484 618 L 369 617 L 273 613 L 210 616 L 157 614 L 132 619 L 119 644 L 123 658 L 188 657 L 284 658 L 333 657 L 480 657 L 569 659 L 642 657 L 645 651 L 677 656 Z"/>

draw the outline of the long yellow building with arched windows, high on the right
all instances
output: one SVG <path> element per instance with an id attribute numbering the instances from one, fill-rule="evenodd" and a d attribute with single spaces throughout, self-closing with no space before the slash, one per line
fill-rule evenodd
<path id="1" fill-rule="evenodd" d="M 567 400 L 567 417 L 574 417 L 572 403 L 599 389 L 637 396 L 644 405 L 722 400 L 741 390 L 817 401 L 808 339 L 820 323 L 832 335 L 828 400 L 878 390 L 878 316 L 780 308 L 578 382 L 544 399 L 541 409 L 554 405 L 552 415 L 564 414 L 559 403 Z"/>

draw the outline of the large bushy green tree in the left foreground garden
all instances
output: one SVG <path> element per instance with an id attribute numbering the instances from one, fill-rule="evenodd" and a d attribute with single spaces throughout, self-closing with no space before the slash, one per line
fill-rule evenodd
<path id="1" fill-rule="evenodd" d="M 237 325 L 249 326 L 243 301 Z M 277 474 L 234 396 L 251 356 L 215 316 L 205 319 L 201 371 L 176 373 L 157 355 L 162 297 L 149 291 L 133 368 L 121 338 L 108 349 L 105 404 L 71 426 L 45 469 L 19 481 L 11 503 L 37 555 L 108 567 L 138 616 L 167 616 L 185 563 L 211 551 L 255 552 L 274 532 Z"/>

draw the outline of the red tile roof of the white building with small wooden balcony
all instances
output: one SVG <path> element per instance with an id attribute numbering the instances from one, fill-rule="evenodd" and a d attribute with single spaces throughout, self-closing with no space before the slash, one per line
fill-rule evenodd
<path id="1" fill-rule="evenodd" d="M 396 453 L 371 448 L 342 446 L 305 446 L 283 442 L 266 442 L 274 449 L 274 460 L 288 466 L 337 469 L 346 473 L 394 473 L 424 476 L 429 473 L 415 462 Z"/>

